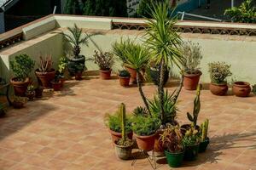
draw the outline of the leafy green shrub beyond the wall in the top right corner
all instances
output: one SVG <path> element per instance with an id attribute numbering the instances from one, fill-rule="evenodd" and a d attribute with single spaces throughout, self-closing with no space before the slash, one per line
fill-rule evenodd
<path id="1" fill-rule="evenodd" d="M 253 0 L 246 0 L 239 7 L 226 9 L 224 15 L 234 22 L 256 23 L 256 8 Z"/>

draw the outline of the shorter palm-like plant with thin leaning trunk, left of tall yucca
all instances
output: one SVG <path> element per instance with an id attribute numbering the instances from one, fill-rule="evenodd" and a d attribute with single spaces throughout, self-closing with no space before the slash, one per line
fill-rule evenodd
<path id="1" fill-rule="evenodd" d="M 148 65 L 148 60 L 150 56 L 148 54 L 148 50 L 146 48 L 143 48 L 142 45 L 137 44 L 136 47 L 137 48 L 134 48 L 133 50 L 125 50 L 125 62 L 126 64 L 131 65 L 131 67 L 137 71 L 137 86 L 142 96 L 144 105 L 146 106 L 148 113 L 150 114 L 148 101 L 143 93 L 142 82 L 140 80 L 142 70 L 143 68 L 145 68 L 146 65 Z"/>

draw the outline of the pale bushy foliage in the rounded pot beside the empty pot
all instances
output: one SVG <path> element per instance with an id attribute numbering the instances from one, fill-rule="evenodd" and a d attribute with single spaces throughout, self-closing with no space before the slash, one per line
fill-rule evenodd
<path id="1" fill-rule="evenodd" d="M 226 65 L 225 62 L 212 62 L 209 63 L 209 73 L 212 82 L 226 83 L 226 78 L 232 76 L 230 71 L 231 65 Z"/>

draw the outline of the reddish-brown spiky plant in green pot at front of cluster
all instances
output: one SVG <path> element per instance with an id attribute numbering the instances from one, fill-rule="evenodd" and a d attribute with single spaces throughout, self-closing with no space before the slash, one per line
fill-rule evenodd
<path id="1" fill-rule="evenodd" d="M 170 167 L 180 167 L 183 162 L 184 151 L 183 135 L 180 127 L 167 126 L 160 134 L 160 144 L 165 150 L 166 160 Z"/>

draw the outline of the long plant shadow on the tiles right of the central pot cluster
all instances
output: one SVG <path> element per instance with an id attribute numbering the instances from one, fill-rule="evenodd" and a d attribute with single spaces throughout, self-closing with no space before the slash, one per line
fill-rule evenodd
<path id="1" fill-rule="evenodd" d="M 249 144 L 239 144 L 239 142 L 250 141 Z M 218 157 L 224 154 L 224 150 L 248 149 L 256 152 L 256 131 L 248 133 L 225 133 L 224 135 L 214 135 L 210 139 L 207 151 L 199 153 L 196 161 L 183 161 L 182 167 L 196 167 L 204 163 L 218 163 L 222 161 Z M 166 158 L 162 157 L 157 160 L 159 166 L 167 164 Z"/>

